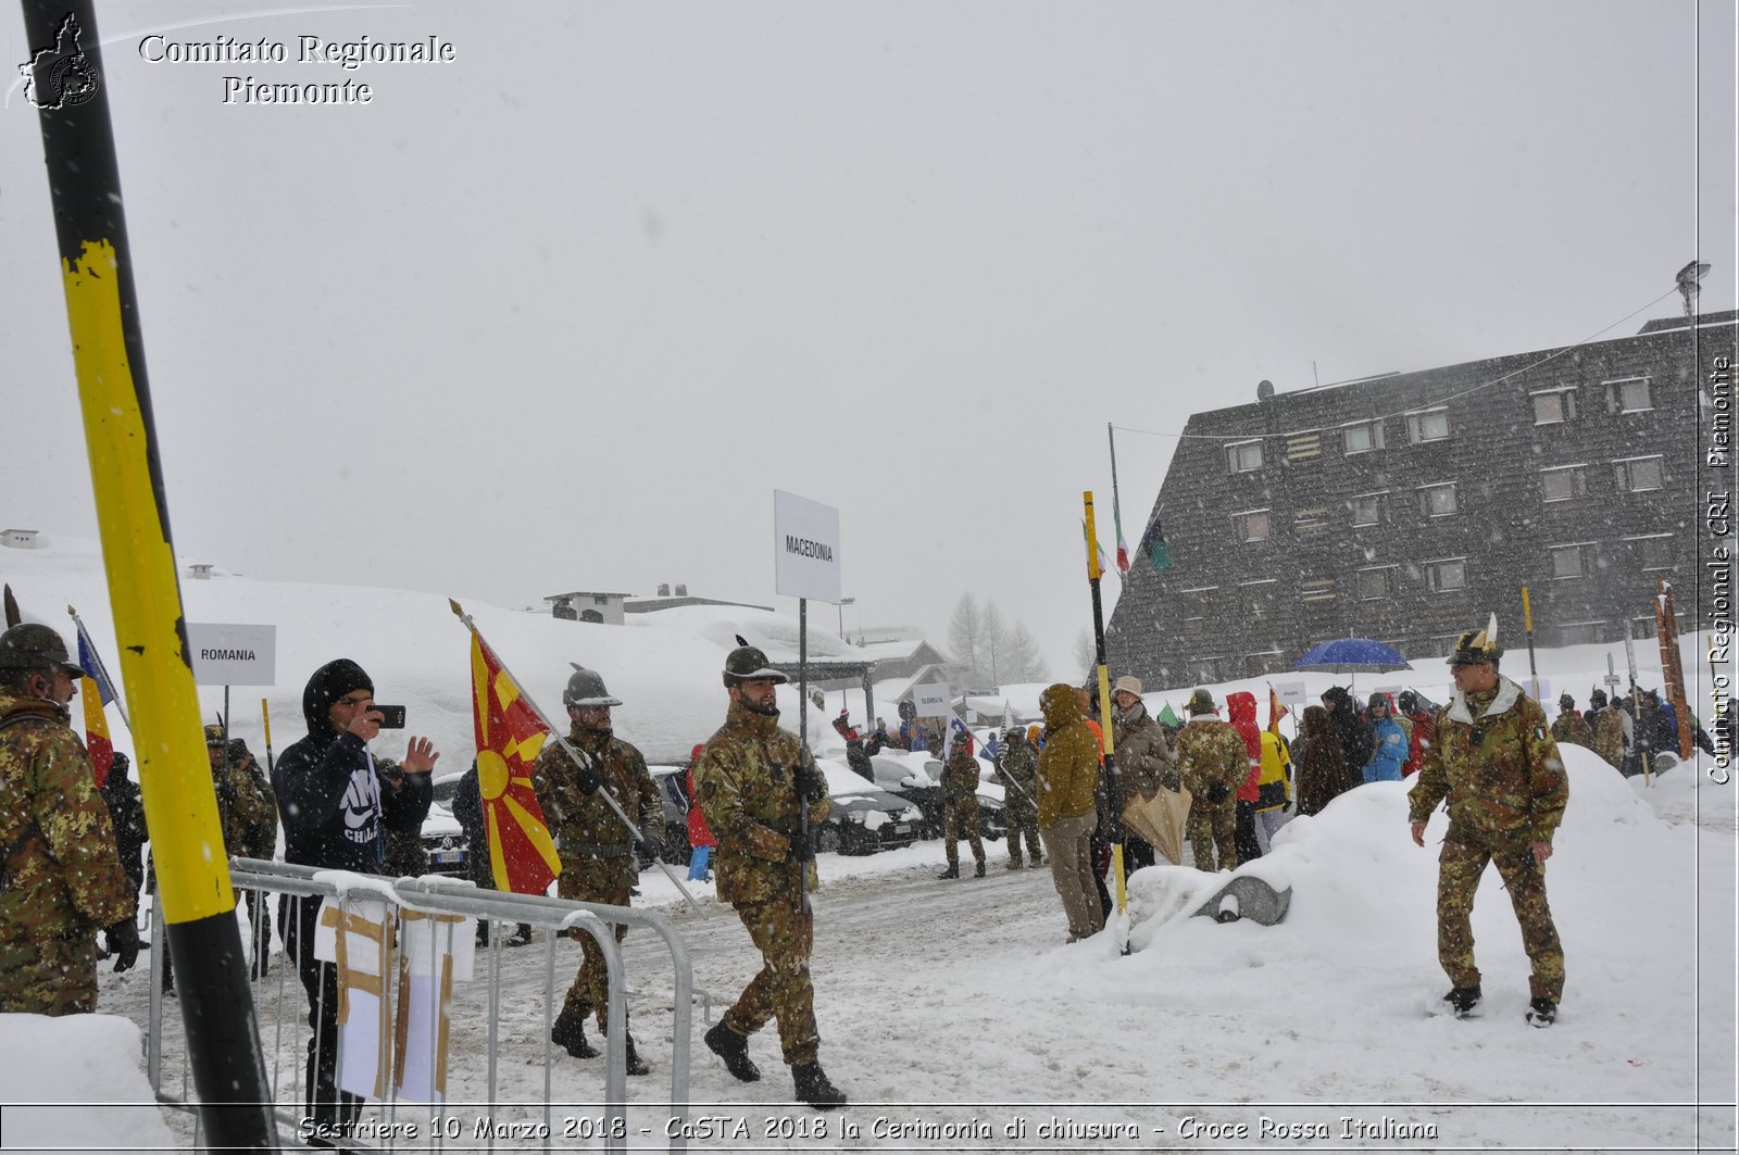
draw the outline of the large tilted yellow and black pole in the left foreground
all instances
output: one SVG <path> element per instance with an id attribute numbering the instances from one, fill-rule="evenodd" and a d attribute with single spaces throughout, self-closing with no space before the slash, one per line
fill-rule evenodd
<path id="1" fill-rule="evenodd" d="M 271 1091 L 200 734 L 90 0 L 23 0 L 103 565 L 139 786 L 210 1150 L 277 1150 Z"/>

